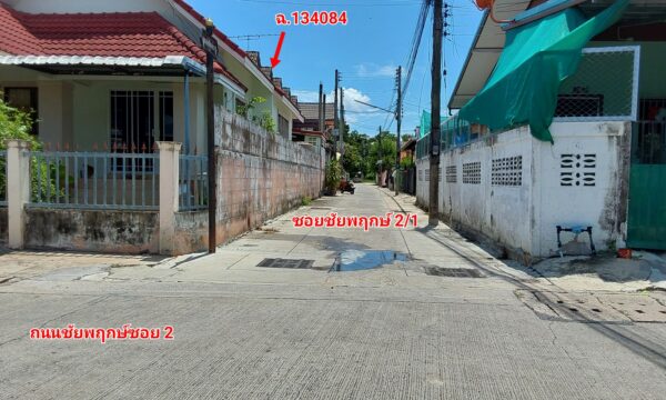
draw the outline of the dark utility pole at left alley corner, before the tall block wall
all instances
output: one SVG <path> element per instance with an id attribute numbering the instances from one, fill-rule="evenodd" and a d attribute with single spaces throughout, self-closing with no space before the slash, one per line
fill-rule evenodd
<path id="1" fill-rule="evenodd" d="M 215 162 L 215 109 L 213 100 L 214 61 L 218 44 L 213 39 L 214 24 L 208 19 L 203 32 L 205 50 L 205 100 L 206 100 L 206 133 L 208 133 L 208 184 L 209 184 L 209 253 L 218 248 L 218 168 Z"/>

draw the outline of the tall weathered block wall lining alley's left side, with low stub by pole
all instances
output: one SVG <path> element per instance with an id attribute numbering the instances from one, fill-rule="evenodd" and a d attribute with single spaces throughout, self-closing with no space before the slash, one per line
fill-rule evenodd
<path id="1" fill-rule="evenodd" d="M 219 108 L 218 243 L 320 196 L 325 154 L 312 146 L 271 134 Z M 206 212 L 176 216 L 176 251 L 208 248 Z"/>

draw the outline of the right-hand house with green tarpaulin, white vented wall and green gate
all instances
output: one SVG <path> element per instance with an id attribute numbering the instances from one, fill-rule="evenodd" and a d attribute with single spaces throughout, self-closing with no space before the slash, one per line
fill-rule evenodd
<path id="1" fill-rule="evenodd" d="M 592 251 L 591 237 L 596 250 L 666 249 L 666 1 L 497 0 L 493 12 L 508 22 L 484 14 L 441 127 L 442 219 L 526 263 Z M 424 207 L 430 143 L 417 143 Z"/>

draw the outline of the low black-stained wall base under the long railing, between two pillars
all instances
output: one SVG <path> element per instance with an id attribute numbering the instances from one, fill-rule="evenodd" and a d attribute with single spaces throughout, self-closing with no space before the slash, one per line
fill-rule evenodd
<path id="1" fill-rule="evenodd" d="M 113 253 L 157 253 L 158 212 L 26 210 L 26 247 Z"/>

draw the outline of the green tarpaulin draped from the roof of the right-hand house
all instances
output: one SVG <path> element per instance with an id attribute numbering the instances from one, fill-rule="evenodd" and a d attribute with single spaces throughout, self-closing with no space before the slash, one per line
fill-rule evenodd
<path id="1" fill-rule="evenodd" d="M 492 130 L 528 123 L 535 138 L 553 141 L 548 127 L 559 84 L 578 68 L 587 42 L 615 23 L 628 2 L 618 0 L 589 20 L 569 8 L 508 30 L 493 74 L 460 118 Z"/>

